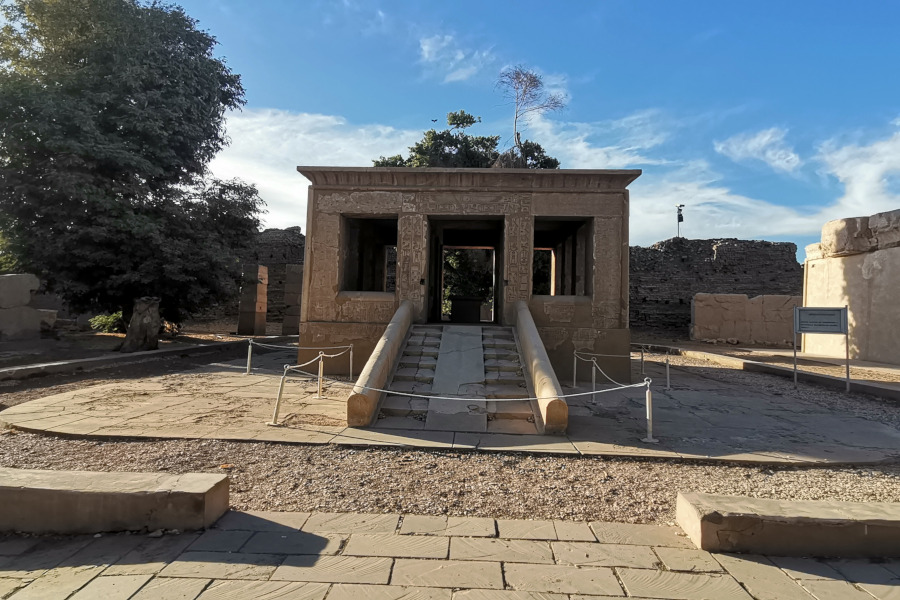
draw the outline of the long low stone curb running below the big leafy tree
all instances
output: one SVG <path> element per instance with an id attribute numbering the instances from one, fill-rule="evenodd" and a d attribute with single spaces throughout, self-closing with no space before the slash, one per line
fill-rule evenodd
<path id="1" fill-rule="evenodd" d="M 253 338 L 258 341 L 279 342 L 287 341 L 290 336 L 273 336 L 265 338 Z M 250 338 L 248 338 L 250 339 Z M 134 352 L 131 354 L 105 354 L 92 358 L 79 358 L 75 360 L 62 360 L 51 363 L 34 365 L 21 365 L 0 369 L 0 381 L 8 379 L 27 379 L 59 373 L 75 373 L 104 369 L 107 367 L 142 363 L 151 360 L 161 360 L 172 356 L 194 356 L 227 350 L 237 350 L 247 347 L 247 340 L 232 342 L 216 342 L 212 344 L 198 344 L 196 346 L 183 346 L 179 348 L 163 348 L 161 350 L 149 350 L 147 352 Z"/>

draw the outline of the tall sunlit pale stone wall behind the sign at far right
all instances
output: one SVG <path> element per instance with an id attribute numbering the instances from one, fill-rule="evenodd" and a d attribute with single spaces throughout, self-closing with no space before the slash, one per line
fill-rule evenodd
<path id="1" fill-rule="evenodd" d="M 829 221 L 806 248 L 803 305 L 849 307 L 850 357 L 900 364 L 900 210 Z M 841 335 L 804 335 L 803 351 L 844 356 Z"/>

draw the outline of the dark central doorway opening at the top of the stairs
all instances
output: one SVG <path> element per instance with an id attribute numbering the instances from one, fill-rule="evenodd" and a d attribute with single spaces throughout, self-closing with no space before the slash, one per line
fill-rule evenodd
<path id="1" fill-rule="evenodd" d="M 429 217 L 428 320 L 496 323 L 503 217 Z"/>

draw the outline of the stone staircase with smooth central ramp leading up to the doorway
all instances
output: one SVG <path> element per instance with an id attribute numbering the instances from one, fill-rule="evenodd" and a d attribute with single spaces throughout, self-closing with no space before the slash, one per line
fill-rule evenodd
<path id="1" fill-rule="evenodd" d="M 536 433 L 511 327 L 414 325 L 387 389 L 375 427 Z"/>

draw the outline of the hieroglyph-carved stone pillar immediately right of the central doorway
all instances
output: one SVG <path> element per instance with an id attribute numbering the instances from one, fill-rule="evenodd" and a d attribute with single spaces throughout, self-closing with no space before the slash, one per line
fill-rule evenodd
<path id="1" fill-rule="evenodd" d="M 528 198 L 513 195 L 506 199 L 509 213 L 504 220 L 504 301 L 527 301 L 531 297 L 531 263 L 534 254 L 534 219 Z"/>

